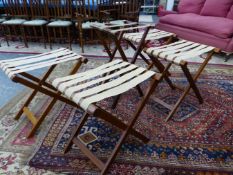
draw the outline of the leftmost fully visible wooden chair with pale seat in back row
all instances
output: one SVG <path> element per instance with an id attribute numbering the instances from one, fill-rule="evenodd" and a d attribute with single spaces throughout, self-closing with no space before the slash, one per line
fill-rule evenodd
<path id="1" fill-rule="evenodd" d="M 26 0 L 3 0 L 3 3 L 7 6 L 9 16 L 11 16 L 10 20 L 2 22 L 4 37 L 7 45 L 9 46 L 9 37 L 11 39 L 19 37 L 19 39 L 22 40 L 24 36 L 22 24 L 26 22 L 29 15 Z M 24 42 L 26 42 L 25 38 Z"/>

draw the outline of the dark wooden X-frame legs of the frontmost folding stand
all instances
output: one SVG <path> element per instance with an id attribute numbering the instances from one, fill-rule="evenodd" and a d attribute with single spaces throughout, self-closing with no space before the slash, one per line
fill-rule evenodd
<path id="1" fill-rule="evenodd" d="M 140 134 L 139 132 L 135 131 L 133 129 L 133 126 L 135 124 L 135 122 L 137 121 L 141 111 L 143 110 L 144 106 L 146 105 L 146 102 L 148 101 L 149 97 L 151 96 L 151 94 L 153 93 L 154 89 L 156 88 L 156 86 L 158 85 L 158 83 L 161 81 L 162 79 L 162 75 L 161 74 L 157 74 L 155 76 L 153 76 L 153 79 L 144 95 L 144 97 L 141 99 L 141 101 L 139 102 L 135 113 L 133 114 L 132 119 L 129 121 L 128 124 L 124 124 L 123 122 L 121 122 L 119 119 L 117 119 L 116 117 L 114 117 L 111 113 L 108 113 L 107 111 L 99 108 L 98 106 L 94 106 L 93 105 L 93 109 L 87 111 L 84 116 L 82 117 L 79 125 L 74 128 L 69 141 L 64 149 L 64 152 L 66 153 L 67 151 L 70 150 L 72 144 L 75 144 L 76 146 L 78 146 L 80 148 L 80 150 L 101 170 L 101 174 L 106 174 L 107 170 L 109 169 L 110 165 L 112 164 L 112 162 L 114 161 L 114 159 L 116 158 L 117 153 L 119 152 L 123 142 L 125 141 L 125 139 L 127 138 L 127 136 L 129 134 L 134 134 L 135 136 L 137 136 L 138 138 L 140 138 L 142 141 L 144 141 L 145 143 L 147 143 L 149 141 L 148 138 L 146 138 L 145 136 L 143 136 L 142 134 Z M 84 126 L 85 122 L 88 119 L 88 116 L 90 114 L 93 114 L 96 117 L 102 118 L 104 120 L 106 120 L 107 122 L 111 123 L 112 125 L 115 125 L 117 127 L 119 127 L 122 131 L 122 135 L 120 137 L 120 139 L 118 140 L 113 153 L 110 155 L 110 157 L 108 158 L 108 160 L 103 163 L 102 160 L 98 159 L 81 141 L 80 139 L 77 137 L 77 135 L 79 134 L 79 132 L 81 131 L 81 128 Z"/>

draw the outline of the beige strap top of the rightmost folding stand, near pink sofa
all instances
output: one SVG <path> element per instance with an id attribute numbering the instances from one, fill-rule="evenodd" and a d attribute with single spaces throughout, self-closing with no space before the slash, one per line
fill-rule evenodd
<path id="1" fill-rule="evenodd" d="M 212 46 L 180 40 L 161 47 L 148 48 L 144 51 L 151 56 L 180 64 L 181 61 L 186 61 L 188 58 L 194 58 L 212 50 L 214 50 Z"/>

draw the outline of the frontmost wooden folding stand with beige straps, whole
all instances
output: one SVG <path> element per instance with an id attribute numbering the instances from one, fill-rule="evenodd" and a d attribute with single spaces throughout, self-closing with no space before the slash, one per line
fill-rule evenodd
<path id="1" fill-rule="evenodd" d="M 79 125 L 74 128 L 64 152 L 66 153 L 69 151 L 72 144 L 77 145 L 101 170 L 101 174 L 106 174 L 109 166 L 114 161 L 118 151 L 129 134 L 132 134 L 147 143 L 149 139 L 140 132 L 134 130 L 133 126 L 152 92 L 161 81 L 162 76 L 163 75 L 149 71 L 145 68 L 116 59 L 87 72 L 55 79 L 52 82 L 52 85 L 68 99 L 76 103 L 77 107 L 80 107 L 85 111 Z M 97 102 L 112 96 L 118 96 L 151 77 L 152 80 L 148 89 L 145 91 L 145 95 L 140 100 L 132 118 L 130 118 L 127 124 L 97 105 Z M 103 119 L 123 131 L 113 153 L 105 163 L 98 159 L 86 147 L 80 136 L 77 137 L 90 115 Z"/>

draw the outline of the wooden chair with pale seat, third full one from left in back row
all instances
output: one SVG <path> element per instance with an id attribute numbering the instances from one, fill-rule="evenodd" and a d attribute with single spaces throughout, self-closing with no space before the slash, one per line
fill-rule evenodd
<path id="1" fill-rule="evenodd" d="M 72 1 L 46 0 L 50 23 L 47 24 L 48 41 L 52 49 L 51 40 L 68 39 L 69 48 L 72 49 Z"/>

